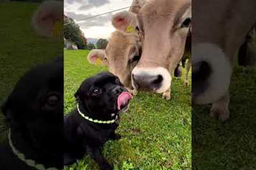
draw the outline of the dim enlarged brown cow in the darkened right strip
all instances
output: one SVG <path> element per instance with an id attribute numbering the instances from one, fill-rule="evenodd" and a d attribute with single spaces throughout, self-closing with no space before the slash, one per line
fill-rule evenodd
<path id="1" fill-rule="evenodd" d="M 233 63 L 246 35 L 256 24 L 256 1 L 193 2 L 193 103 L 213 103 L 210 115 L 229 117 Z M 203 29 L 203 30 L 202 30 Z"/>

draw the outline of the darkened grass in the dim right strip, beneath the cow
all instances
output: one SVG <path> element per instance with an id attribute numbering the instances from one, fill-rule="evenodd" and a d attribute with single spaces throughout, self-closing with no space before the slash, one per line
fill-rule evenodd
<path id="1" fill-rule="evenodd" d="M 236 67 L 225 123 L 209 116 L 210 105 L 193 108 L 193 169 L 256 169 L 255 80 L 255 68 Z"/>

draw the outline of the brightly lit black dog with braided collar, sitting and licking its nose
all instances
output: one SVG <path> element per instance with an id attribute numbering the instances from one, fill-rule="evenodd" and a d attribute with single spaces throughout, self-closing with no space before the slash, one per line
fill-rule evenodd
<path id="1" fill-rule="evenodd" d="M 102 72 L 86 79 L 75 97 L 77 108 L 64 117 L 64 164 L 70 165 L 88 153 L 102 169 L 113 169 L 103 158 L 101 147 L 115 134 L 119 113 L 127 109 L 132 96 L 115 75 Z"/>

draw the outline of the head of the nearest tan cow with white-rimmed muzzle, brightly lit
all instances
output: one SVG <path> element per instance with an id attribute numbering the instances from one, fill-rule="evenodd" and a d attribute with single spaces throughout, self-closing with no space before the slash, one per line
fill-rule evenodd
<path id="1" fill-rule="evenodd" d="M 191 26 L 191 1 L 149 2 L 141 8 L 137 20 L 143 46 L 141 59 L 132 71 L 133 87 L 165 92 L 185 50 Z"/>

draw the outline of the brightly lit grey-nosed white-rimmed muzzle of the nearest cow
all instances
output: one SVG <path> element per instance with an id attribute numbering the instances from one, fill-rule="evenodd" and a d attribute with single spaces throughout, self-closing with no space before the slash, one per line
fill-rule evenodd
<path id="1" fill-rule="evenodd" d="M 163 93 L 171 86 L 171 75 L 163 67 L 135 67 L 132 71 L 132 86 Z"/>

